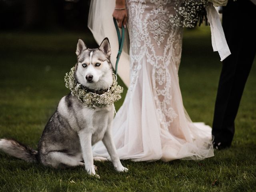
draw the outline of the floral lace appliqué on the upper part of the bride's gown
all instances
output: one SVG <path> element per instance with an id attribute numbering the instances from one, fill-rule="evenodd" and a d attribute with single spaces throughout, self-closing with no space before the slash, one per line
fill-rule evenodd
<path id="1" fill-rule="evenodd" d="M 161 128 L 168 130 L 178 116 L 172 107 L 170 65 L 175 65 L 178 70 L 182 32 L 169 22 L 168 15 L 171 13 L 166 6 L 172 6 L 169 4 L 175 4 L 177 0 L 150 0 L 155 6 L 150 12 L 147 10 L 146 14 L 145 2 L 145 0 L 128 0 L 128 15 L 132 18 L 128 21 L 132 65 L 129 91 L 132 91 L 136 85 L 142 64 L 143 66 L 150 64 L 156 113 Z M 178 71 L 176 73 L 178 75 Z"/>

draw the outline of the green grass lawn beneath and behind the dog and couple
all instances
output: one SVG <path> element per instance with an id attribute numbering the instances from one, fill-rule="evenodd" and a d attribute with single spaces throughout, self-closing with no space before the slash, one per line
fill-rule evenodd
<path id="1" fill-rule="evenodd" d="M 0 138 L 15 138 L 36 148 L 58 101 L 68 94 L 65 73 L 76 63 L 76 42 L 90 34 L 0 33 Z M 212 124 L 221 70 L 212 52 L 209 28 L 184 32 L 180 87 L 191 119 Z M 256 66 L 252 67 L 236 119 L 232 147 L 215 151 L 200 162 L 95 162 L 100 179 L 84 168 L 45 168 L 0 152 L 0 191 L 255 191 L 256 190 Z M 125 90 L 126 92 L 126 90 Z M 116 103 L 118 109 L 122 100 Z"/>

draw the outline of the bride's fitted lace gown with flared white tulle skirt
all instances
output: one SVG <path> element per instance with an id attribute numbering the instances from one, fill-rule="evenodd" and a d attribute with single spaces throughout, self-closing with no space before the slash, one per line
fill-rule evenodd
<path id="1" fill-rule="evenodd" d="M 172 26 L 168 19 L 175 2 L 126 1 L 130 86 L 112 128 L 120 159 L 170 161 L 214 156 L 211 128 L 193 123 L 183 107 L 178 80 L 182 28 Z M 108 14 L 112 12 L 108 10 Z M 93 154 L 110 158 L 102 142 L 93 147 Z"/>

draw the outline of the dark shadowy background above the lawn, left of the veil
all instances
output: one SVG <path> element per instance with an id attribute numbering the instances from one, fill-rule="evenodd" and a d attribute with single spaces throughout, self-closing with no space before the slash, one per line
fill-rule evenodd
<path id="1" fill-rule="evenodd" d="M 87 30 L 90 0 L 0 0 L 0 30 Z"/>

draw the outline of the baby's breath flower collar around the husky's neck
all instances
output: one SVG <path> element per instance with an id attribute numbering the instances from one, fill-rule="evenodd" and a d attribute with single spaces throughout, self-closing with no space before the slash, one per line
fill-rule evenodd
<path id="1" fill-rule="evenodd" d="M 78 83 L 74 77 L 75 67 L 72 67 L 64 78 L 66 88 L 70 89 L 86 107 L 95 109 L 96 107 L 105 107 L 113 104 L 121 98 L 123 88 L 117 84 L 116 76 L 113 74 L 113 84 L 108 90 L 93 90 L 93 92 Z M 104 91 L 104 92 L 103 92 Z"/>

